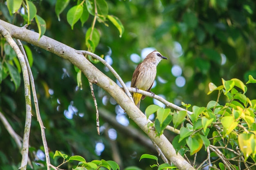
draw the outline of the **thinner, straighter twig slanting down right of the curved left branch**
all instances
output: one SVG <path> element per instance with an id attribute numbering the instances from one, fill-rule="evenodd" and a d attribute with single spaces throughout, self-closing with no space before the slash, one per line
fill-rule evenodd
<path id="1" fill-rule="evenodd" d="M 42 137 L 43 146 L 44 146 L 44 150 L 45 150 L 45 160 L 46 160 L 47 170 L 50 170 L 51 162 L 50 162 L 50 157 L 49 157 L 47 141 L 46 141 L 46 137 L 45 137 L 45 126 L 43 125 L 43 121 L 42 121 L 41 116 L 40 116 L 40 110 L 39 110 L 39 106 L 38 106 L 38 99 L 37 99 L 37 95 L 36 95 L 36 86 L 35 86 L 35 82 L 34 82 L 33 73 L 32 73 L 31 68 L 29 66 L 29 61 L 27 59 L 27 55 L 26 55 L 26 52 L 25 52 L 25 50 L 22 46 L 22 43 L 18 39 L 16 39 L 16 41 L 18 42 L 18 45 L 20 47 L 20 50 L 21 50 L 22 54 L 25 56 L 25 62 L 26 62 L 28 73 L 29 73 L 29 79 L 30 79 L 30 83 L 31 83 L 31 90 L 32 90 L 35 109 L 36 109 L 36 117 L 37 117 L 38 123 L 40 125 L 40 129 L 41 129 L 41 137 Z"/>

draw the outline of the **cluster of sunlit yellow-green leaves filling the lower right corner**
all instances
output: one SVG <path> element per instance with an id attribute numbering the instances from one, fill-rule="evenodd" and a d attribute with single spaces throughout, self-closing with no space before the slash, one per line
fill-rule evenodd
<path id="1" fill-rule="evenodd" d="M 252 76 L 250 77 L 250 79 L 253 79 Z M 209 89 L 209 93 L 218 91 L 217 100 L 210 101 L 207 107 L 193 106 L 193 114 L 191 115 L 187 114 L 186 111 L 176 113 L 170 112 L 168 108 L 158 108 L 159 106 L 155 105 L 148 106 L 146 115 L 149 113 L 152 114 L 150 108 L 153 110 L 157 108 L 157 117 L 154 124 L 157 136 L 162 135 L 166 126 L 171 123 L 167 118 L 168 115 L 173 115 L 173 126 L 175 128 L 180 127 L 179 135 L 173 140 L 173 146 L 177 152 L 183 155 L 184 151 L 189 151 L 190 155 L 194 155 L 204 146 L 209 155 L 217 155 L 225 165 L 240 167 L 240 159 L 245 160 L 243 162 L 245 167 L 249 164 L 255 165 L 256 100 L 250 100 L 246 97 L 247 86 L 239 79 L 227 81 L 222 79 L 222 85 L 218 87 L 213 83 L 209 83 Z M 227 97 L 228 102 L 225 105 L 218 103 L 220 94 Z M 159 122 L 165 121 L 168 121 L 168 124 L 163 128 L 159 128 Z M 184 121 L 186 124 L 180 126 Z M 189 150 L 187 150 L 185 144 Z M 235 148 L 236 150 L 234 150 Z M 225 152 L 220 152 L 220 150 L 225 150 Z M 243 155 L 240 155 L 240 152 Z M 238 158 L 232 159 L 232 163 L 228 159 L 228 155 L 230 154 L 236 154 L 238 156 Z M 250 160 L 248 160 L 249 157 L 251 158 Z M 222 169 L 223 165 L 218 159 L 214 160 L 212 156 L 208 156 L 207 159 L 212 159 L 212 166 Z"/>

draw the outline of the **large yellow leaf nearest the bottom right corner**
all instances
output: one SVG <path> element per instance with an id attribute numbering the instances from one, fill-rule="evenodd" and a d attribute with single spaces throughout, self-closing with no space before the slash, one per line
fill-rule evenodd
<path id="1" fill-rule="evenodd" d="M 243 152 L 245 161 L 252 154 L 252 139 L 254 135 L 251 133 L 242 133 L 238 135 L 238 145 L 240 150 Z"/>

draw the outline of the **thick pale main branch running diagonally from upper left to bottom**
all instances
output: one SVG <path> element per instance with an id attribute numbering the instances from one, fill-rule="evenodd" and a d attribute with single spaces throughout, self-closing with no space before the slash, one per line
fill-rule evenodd
<path id="1" fill-rule="evenodd" d="M 92 63 L 90 63 L 78 50 L 71 48 L 61 42 L 42 36 L 38 41 L 39 34 L 27 29 L 14 26 L 7 22 L 0 20 L 0 25 L 9 30 L 13 38 L 17 38 L 22 41 L 26 41 L 49 52 L 52 52 L 65 60 L 69 60 L 72 64 L 76 65 L 88 80 L 108 92 L 115 101 L 126 110 L 129 117 L 135 121 L 135 123 L 154 141 L 157 146 L 162 150 L 165 157 L 174 163 L 180 170 L 195 170 L 189 162 L 187 162 L 180 154 L 176 154 L 173 145 L 168 139 L 161 135 L 155 137 L 155 131 L 148 129 L 148 123 L 152 123 L 147 120 L 145 115 L 135 106 L 130 98 L 124 93 L 112 79 L 103 74 Z"/>

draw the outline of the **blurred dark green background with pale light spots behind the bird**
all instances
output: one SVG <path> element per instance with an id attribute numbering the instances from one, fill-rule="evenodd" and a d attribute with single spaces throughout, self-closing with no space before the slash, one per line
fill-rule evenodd
<path id="1" fill-rule="evenodd" d="M 5 1 L 0 1 L 0 19 L 17 26 L 25 24 L 20 15 L 10 16 Z M 119 73 L 127 86 L 137 64 L 153 50 L 168 58 L 160 62 L 152 92 L 168 101 L 206 106 L 215 100 L 217 93 L 207 95 L 208 84 L 221 84 L 221 78 L 241 79 L 247 82 L 248 75 L 256 77 L 256 1 L 255 0 L 108 0 L 109 14 L 117 16 L 125 32 L 119 38 L 117 28 L 97 22 L 101 35 L 95 53 L 105 55 L 105 60 Z M 91 26 L 90 15 L 83 27 L 81 22 L 71 29 L 67 23 L 68 9 L 76 5 L 70 1 L 58 21 L 54 12 L 55 0 L 34 0 L 37 14 L 47 23 L 45 35 L 74 49 L 86 50 L 85 33 Z M 27 29 L 37 31 L 35 22 Z M 2 46 L 6 45 L 1 36 Z M 23 42 L 27 44 L 26 42 Z M 68 155 L 81 155 L 86 161 L 93 159 L 115 160 L 119 165 L 151 169 L 155 162 L 142 160 L 144 154 L 157 155 L 150 145 L 145 145 L 136 135 L 129 135 L 134 122 L 116 104 L 115 100 L 98 86 L 94 93 L 100 110 L 101 135 L 97 135 L 96 116 L 90 87 L 85 76 L 83 88 L 76 84 L 74 66 L 62 58 L 36 46 L 27 44 L 33 53 L 32 72 L 36 83 L 41 117 L 46 127 L 48 147 L 51 152 L 60 150 Z M 1 49 L 0 58 L 4 60 Z M 103 73 L 116 81 L 101 63 L 94 64 Z M 22 77 L 22 76 L 21 76 Z M 249 84 L 247 97 L 254 99 L 255 84 Z M 225 99 L 220 102 L 225 104 Z M 141 102 L 144 112 L 150 104 L 159 104 L 146 97 Z M 162 104 L 159 104 L 162 106 Z M 24 86 L 15 91 L 10 77 L 0 84 L 0 111 L 13 129 L 23 136 L 25 122 Z M 33 111 L 34 112 L 34 111 Z M 112 116 L 112 117 L 108 117 Z M 112 121 L 123 124 L 120 128 Z M 129 126 L 128 126 L 129 125 Z M 166 132 L 168 139 L 173 134 Z M 31 125 L 31 160 L 42 159 L 40 127 L 34 113 Z M 117 152 L 113 151 L 117 148 Z M 32 151 L 37 153 L 35 158 Z M 117 155 L 119 153 L 119 155 Z M 202 158 L 198 158 L 200 163 Z M 18 148 L 3 124 L 0 124 L 0 168 L 18 167 L 21 156 Z M 60 161 L 60 162 L 58 162 Z M 53 161 L 58 165 L 61 160 Z M 161 161 L 160 161 L 161 162 Z M 12 167 L 12 168 L 13 168 Z M 63 167 L 67 168 L 67 167 Z M 40 168 L 39 168 L 40 169 Z"/>

